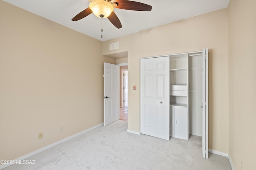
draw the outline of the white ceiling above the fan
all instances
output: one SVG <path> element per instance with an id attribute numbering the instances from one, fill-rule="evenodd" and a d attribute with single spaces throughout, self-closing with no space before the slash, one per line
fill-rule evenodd
<path id="1" fill-rule="evenodd" d="M 230 0 L 134 0 L 152 6 L 150 12 L 122 10 L 114 12 L 122 23 L 117 29 L 107 18 L 102 20 L 103 38 L 101 38 L 101 18 L 89 16 L 71 21 L 82 10 L 88 8 L 88 0 L 4 0 L 29 12 L 42 16 L 100 41 L 106 41 L 152 27 L 190 18 L 214 10 L 228 7 Z"/>

